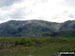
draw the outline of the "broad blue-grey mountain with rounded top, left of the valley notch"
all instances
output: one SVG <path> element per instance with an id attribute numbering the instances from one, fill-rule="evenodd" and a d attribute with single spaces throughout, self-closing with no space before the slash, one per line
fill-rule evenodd
<path id="1" fill-rule="evenodd" d="M 42 20 L 15 21 L 0 24 L 1 36 L 42 36 L 51 35 L 59 24 Z"/>

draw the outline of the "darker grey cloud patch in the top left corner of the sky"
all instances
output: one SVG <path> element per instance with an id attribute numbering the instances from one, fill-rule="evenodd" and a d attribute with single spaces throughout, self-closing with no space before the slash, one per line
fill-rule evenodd
<path id="1" fill-rule="evenodd" d="M 20 2 L 22 0 L 0 0 L 0 7 L 10 6 L 16 2 Z"/>

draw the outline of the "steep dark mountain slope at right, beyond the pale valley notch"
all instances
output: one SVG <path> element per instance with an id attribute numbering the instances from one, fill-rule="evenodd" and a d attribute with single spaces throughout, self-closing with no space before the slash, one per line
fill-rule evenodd
<path id="1" fill-rule="evenodd" d="M 62 24 L 59 31 L 53 33 L 52 36 L 57 37 L 75 37 L 75 20 L 66 21 Z"/>

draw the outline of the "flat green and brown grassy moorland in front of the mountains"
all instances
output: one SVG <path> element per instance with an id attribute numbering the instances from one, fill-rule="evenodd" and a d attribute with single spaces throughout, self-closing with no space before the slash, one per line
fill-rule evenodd
<path id="1" fill-rule="evenodd" d="M 59 51 L 75 51 L 75 39 L 50 37 L 0 38 L 0 56 L 49 56 Z"/>

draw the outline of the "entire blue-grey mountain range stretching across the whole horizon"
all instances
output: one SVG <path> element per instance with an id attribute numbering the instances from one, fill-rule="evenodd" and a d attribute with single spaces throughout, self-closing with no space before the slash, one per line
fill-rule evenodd
<path id="1" fill-rule="evenodd" d="M 74 20 L 64 23 L 43 20 L 11 20 L 0 24 L 0 36 L 75 36 L 74 33 Z"/>

